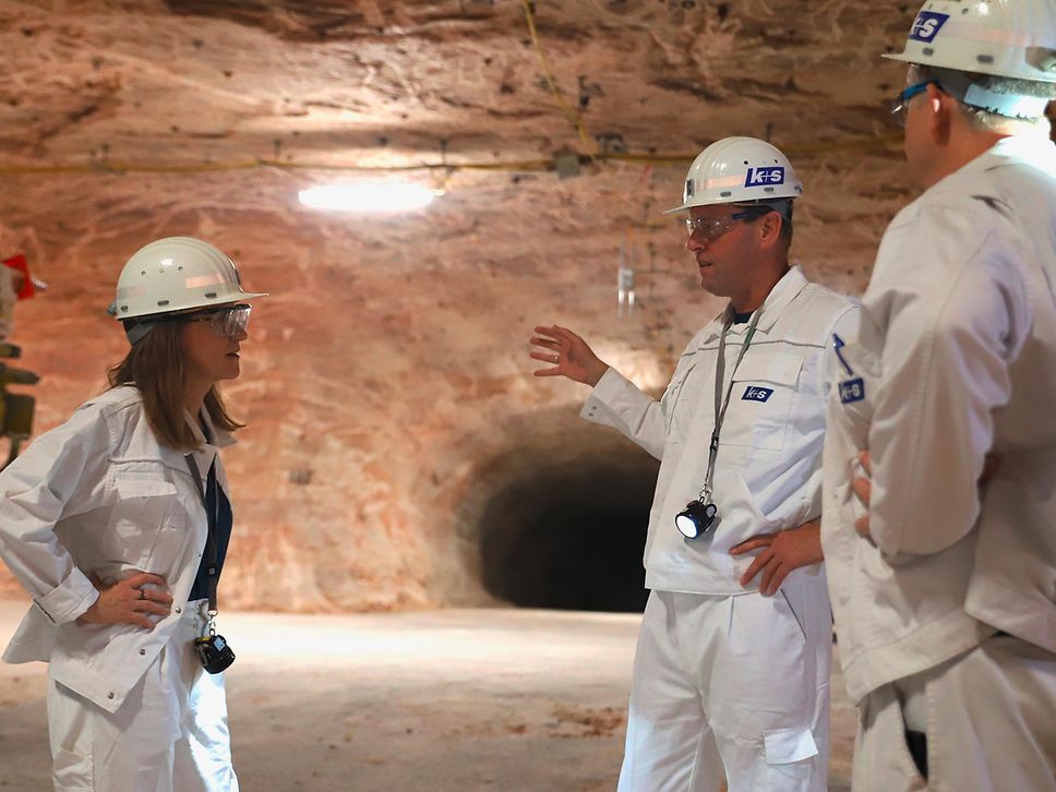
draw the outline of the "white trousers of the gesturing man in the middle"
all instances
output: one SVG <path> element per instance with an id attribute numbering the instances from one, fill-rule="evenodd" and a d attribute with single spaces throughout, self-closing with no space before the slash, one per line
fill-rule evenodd
<path id="1" fill-rule="evenodd" d="M 824 792 L 831 658 L 824 578 L 772 597 L 652 591 L 619 792 Z"/>

